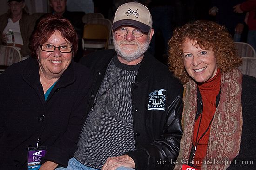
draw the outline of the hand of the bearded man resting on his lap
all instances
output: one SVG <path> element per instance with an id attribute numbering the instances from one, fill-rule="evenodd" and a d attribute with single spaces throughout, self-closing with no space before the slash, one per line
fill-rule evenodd
<path id="1" fill-rule="evenodd" d="M 109 157 L 101 170 L 115 170 L 120 166 L 135 168 L 135 163 L 134 160 L 128 155 L 122 155 L 119 157 Z"/>

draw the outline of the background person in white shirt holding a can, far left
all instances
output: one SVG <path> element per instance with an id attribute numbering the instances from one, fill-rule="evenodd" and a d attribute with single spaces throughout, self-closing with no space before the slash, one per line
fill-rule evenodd
<path id="1" fill-rule="evenodd" d="M 34 19 L 25 10 L 24 0 L 8 0 L 8 12 L 0 16 L 0 45 L 15 46 L 20 50 L 22 57 L 30 54 L 29 38 L 34 29 Z M 14 33 L 14 42 L 7 44 L 6 33 Z"/>

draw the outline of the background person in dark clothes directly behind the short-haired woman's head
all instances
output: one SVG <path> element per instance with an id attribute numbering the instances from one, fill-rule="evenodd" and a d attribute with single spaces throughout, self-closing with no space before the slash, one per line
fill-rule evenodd
<path id="1" fill-rule="evenodd" d="M 78 62 L 83 57 L 82 37 L 84 24 L 82 17 L 84 12 L 71 12 L 66 10 L 67 0 L 50 0 L 50 6 L 53 8 L 53 14 L 65 17 L 74 26 L 76 33 L 78 34 L 78 51 L 74 56 L 74 61 Z"/>

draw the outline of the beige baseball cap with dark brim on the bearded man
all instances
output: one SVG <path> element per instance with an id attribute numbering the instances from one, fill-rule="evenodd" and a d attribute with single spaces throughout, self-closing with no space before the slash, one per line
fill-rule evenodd
<path id="1" fill-rule="evenodd" d="M 128 2 L 119 6 L 115 12 L 112 28 L 121 25 L 133 25 L 144 32 L 152 28 L 152 16 L 148 8 L 138 2 Z"/>

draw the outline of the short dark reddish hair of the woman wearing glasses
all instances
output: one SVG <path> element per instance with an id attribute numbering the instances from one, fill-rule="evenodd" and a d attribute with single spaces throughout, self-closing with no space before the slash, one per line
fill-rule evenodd
<path id="1" fill-rule="evenodd" d="M 30 37 L 29 49 L 31 50 L 31 57 L 37 58 L 37 49 L 40 44 L 44 44 L 51 37 L 55 31 L 60 31 L 61 36 L 71 43 L 73 46 L 73 57 L 77 52 L 77 33 L 72 24 L 66 18 L 54 14 L 43 15 L 39 23 L 34 28 Z"/>

